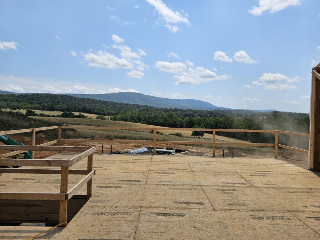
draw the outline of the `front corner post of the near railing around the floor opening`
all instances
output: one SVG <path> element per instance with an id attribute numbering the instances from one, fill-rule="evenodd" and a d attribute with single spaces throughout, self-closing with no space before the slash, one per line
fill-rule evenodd
<path id="1" fill-rule="evenodd" d="M 60 193 L 68 192 L 69 167 L 61 167 Z M 67 222 L 68 200 L 60 200 L 59 224 Z M 67 226 L 66 224 L 61 227 Z"/>

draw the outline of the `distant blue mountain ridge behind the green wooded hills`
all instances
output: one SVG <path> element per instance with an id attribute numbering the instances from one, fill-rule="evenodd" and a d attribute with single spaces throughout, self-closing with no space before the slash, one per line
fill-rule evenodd
<path id="1" fill-rule="evenodd" d="M 0 94 L 31 94 L 31 93 L 17 93 L 17 92 L 7 92 L 1 91 Z M 105 94 L 61 94 L 69 95 L 78 98 L 90 98 L 103 101 L 121 102 L 121 103 L 131 103 L 139 105 L 148 105 L 156 108 L 180 108 L 180 109 L 199 109 L 199 110 L 230 110 L 231 108 L 223 108 L 212 105 L 209 102 L 195 100 L 195 99 L 169 99 L 160 98 L 149 95 L 144 95 L 142 93 L 136 92 L 117 92 L 117 93 L 105 93 Z M 269 110 L 254 110 L 259 112 L 270 112 Z"/>

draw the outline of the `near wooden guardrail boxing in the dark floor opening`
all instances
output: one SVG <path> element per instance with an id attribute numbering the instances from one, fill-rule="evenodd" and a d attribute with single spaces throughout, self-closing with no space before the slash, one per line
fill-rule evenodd
<path id="1" fill-rule="evenodd" d="M 58 200 L 60 201 L 59 224 L 67 222 L 68 200 L 76 192 L 87 184 L 87 199 L 92 196 L 92 177 L 95 171 L 92 170 L 93 153 L 95 148 L 89 147 L 48 147 L 48 146 L 6 146 L 1 145 L 0 150 L 14 151 L 76 151 L 80 154 L 70 159 L 10 159 L 0 158 L 0 165 L 10 166 L 48 166 L 60 167 L 60 169 L 44 168 L 0 168 L 0 173 L 38 173 L 38 174 L 60 174 L 60 193 L 36 193 L 36 192 L 0 192 L 0 199 L 9 200 Z M 87 169 L 69 169 L 80 160 L 88 158 Z M 81 179 L 73 188 L 68 190 L 68 174 L 83 174 Z"/>

